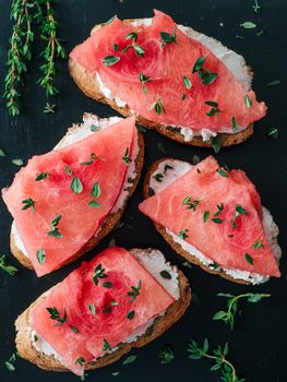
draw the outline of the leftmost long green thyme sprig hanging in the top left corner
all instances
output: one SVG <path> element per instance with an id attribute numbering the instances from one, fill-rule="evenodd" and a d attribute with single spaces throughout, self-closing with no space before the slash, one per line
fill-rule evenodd
<path id="1" fill-rule="evenodd" d="M 15 117 L 20 114 L 19 98 L 20 87 L 23 86 L 23 76 L 27 71 L 26 62 L 31 60 L 31 44 L 34 39 L 32 32 L 31 9 L 34 1 L 13 0 L 11 9 L 11 20 L 15 21 L 12 36 L 9 39 L 9 50 L 7 56 L 8 72 L 5 75 L 5 91 L 3 97 L 9 115 Z"/>

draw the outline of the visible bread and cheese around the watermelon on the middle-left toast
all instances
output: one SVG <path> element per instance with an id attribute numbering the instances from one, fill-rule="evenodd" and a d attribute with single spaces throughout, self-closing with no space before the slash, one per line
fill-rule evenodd
<path id="1" fill-rule="evenodd" d="M 121 118 L 118 117 L 110 117 L 110 118 L 98 118 L 95 115 L 92 114 L 84 114 L 83 116 L 83 123 L 81 124 L 73 124 L 70 129 L 68 129 L 65 135 L 62 138 L 62 140 L 57 144 L 56 147 L 64 147 L 67 145 L 70 145 L 71 143 L 76 142 L 77 140 L 81 140 L 85 138 L 89 133 L 89 126 L 96 124 L 96 126 L 106 126 L 106 124 L 112 124 L 119 121 Z M 135 158 L 135 172 L 136 176 L 132 183 L 125 189 L 128 191 L 128 195 L 123 201 L 123 205 L 118 211 L 111 212 L 109 216 L 106 218 L 105 223 L 103 224 L 100 230 L 97 232 L 96 236 L 94 236 L 72 258 L 69 260 L 69 262 L 62 264 L 62 266 L 67 265 L 70 262 L 75 261 L 77 258 L 80 258 L 83 253 L 88 252 L 94 247 L 96 247 L 118 224 L 118 222 L 121 219 L 127 202 L 129 198 L 134 192 L 140 176 L 141 170 L 143 167 L 143 160 L 144 160 L 144 140 L 142 134 L 137 131 L 137 145 L 139 145 L 139 152 L 137 156 Z M 32 262 L 28 258 L 28 255 L 25 253 L 25 248 L 23 246 L 23 242 L 17 234 L 17 230 L 15 228 L 14 223 L 12 223 L 11 227 L 11 234 L 10 234 L 10 248 L 12 254 L 20 261 L 20 263 L 29 268 L 33 270 Z"/>

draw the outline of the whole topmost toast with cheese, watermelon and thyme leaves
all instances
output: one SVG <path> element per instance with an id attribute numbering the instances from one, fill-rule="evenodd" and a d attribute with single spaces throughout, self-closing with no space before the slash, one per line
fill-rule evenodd
<path id="1" fill-rule="evenodd" d="M 241 56 L 159 11 L 95 26 L 69 69 L 87 96 L 180 143 L 241 143 L 266 112 Z"/>

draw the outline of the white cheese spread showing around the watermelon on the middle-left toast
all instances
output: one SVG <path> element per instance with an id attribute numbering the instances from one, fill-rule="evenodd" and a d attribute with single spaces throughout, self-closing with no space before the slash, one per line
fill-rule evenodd
<path id="1" fill-rule="evenodd" d="M 99 128 L 99 130 L 103 130 L 103 129 L 109 128 L 110 126 L 112 126 L 121 120 L 122 120 L 122 118 L 119 118 L 119 117 L 98 118 L 97 116 L 92 115 L 92 114 L 84 114 L 83 123 L 81 124 L 81 128 L 79 129 L 79 126 L 75 124 L 71 129 L 69 129 L 68 133 L 53 147 L 53 150 L 68 147 L 71 144 L 73 144 L 77 141 L 81 141 L 88 135 L 96 134 L 96 132 L 93 132 L 91 130 L 92 126 L 95 126 L 95 127 Z M 140 150 L 139 142 L 137 142 L 137 139 L 135 139 L 132 153 L 130 154 L 130 158 L 132 159 L 132 162 L 129 164 L 122 191 L 119 194 L 119 198 L 118 198 L 117 202 L 115 203 L 110 213 L 116 213 L 119 210 L 124 207 L 124 204 L 129 198 L 129 188 L 131 187 L 132 181 L 136 178 L 135 159 L 137 157 L 139 150 Z M 14 220 L 12 223 L 11 229 L 12 229 L 11 232 L 12 232 L 13 238 L 14 238 L 15 247 L 17 247 L 17 249 L 23 254 L 28 256 L 27 251 L 25 249 L 25 246 L 23 243 L 23 240 L 21 239 L 21 237 L 19 235 L 19 231 L 17 231 L 17 228 L 16 228 Z M 95 236 L 98 235 L 99 230 L 100 230 L 100 228 L 95 232 Z"/>

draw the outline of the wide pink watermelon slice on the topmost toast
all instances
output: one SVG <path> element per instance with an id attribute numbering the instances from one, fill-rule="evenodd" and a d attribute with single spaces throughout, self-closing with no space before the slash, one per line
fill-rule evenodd
<path id="1" fill-rule="evenodd" d="M 166 44 L 162 48 L 159 33 L 171 35 L 172 31 L 176 32 L 177 44 Z M 136 44 L 144 49 L 143 57 L 136 56 L 133 48 L 122 52 L 132 41 L 125 40 L 131 32 L 139 33 Z M 118 50 L 113 49 L 115 44 Z M 103 63 L 106 56 L 117 56 L 120 60 L 106 67 Z M 120 97 L 137 115 L 154 122 L 192 128 L 194 131 L 207 128 L 232 133 L 232 117 L 240 129 L 266 112 L 265 104 L 258 103 L 254 92 L 247 89 L 216 56 L 201 43 L 186 36 L 168 15 L 158 11 L 155 11 L 151 26 L 133 27 L 115 19 L 76 46 L 70 57 L 87 71 L 97 72 L 112 96 Z M 192 73 L 199 57 L 205 58 L 204 70 L 218 74 L 210 85 L 202 84 L 199 72 Z M 147 94 L 143 92 L 140 73 L 151 77 L 144 83 Z M 183 76 L 191 81 L 190 89 L 184 86 Z M 186 99 L 182 100 L 183 94 Z M 251 107 L 246 105 L 247 95 Z M 160 99 L 166 112 L 162 110 L 157 114 L 155 108 L 151 109 L 157 99 Z M 208 100 L 216 102 L 223 110 L 218 117 L 206 116 L 212 108 L 205 104 Z"/>

